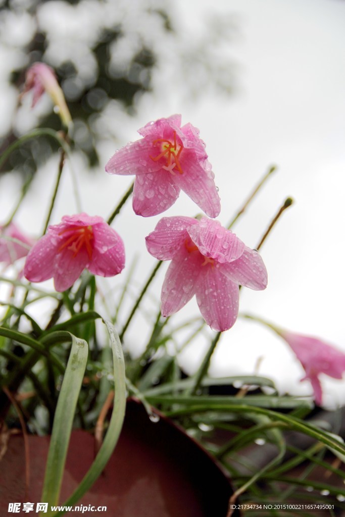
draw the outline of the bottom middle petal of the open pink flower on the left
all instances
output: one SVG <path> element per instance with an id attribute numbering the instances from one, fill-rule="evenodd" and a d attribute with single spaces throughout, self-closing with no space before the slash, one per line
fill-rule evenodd
<path id="1" fill-rule="evenodd" d="M 71 287 L 80 277 L 88 263 L 85 249 L 81 249 L 76 256 L 68 248 L 63 249 L 56 257 L 54 264 L 54 286 L 56 291 L 63 292 Z"/>

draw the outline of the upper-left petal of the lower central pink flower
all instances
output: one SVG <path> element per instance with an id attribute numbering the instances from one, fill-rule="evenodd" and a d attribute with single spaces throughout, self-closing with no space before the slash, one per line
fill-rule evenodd
<path id="1" fill-rule="evenodd" d="M 170 260 L 184 245 L 188 233 L 186 229 L 198 224 L 192 217 L 163 217 L 155 230 L 146 238 L 146 248 L 158 260 Z"/>

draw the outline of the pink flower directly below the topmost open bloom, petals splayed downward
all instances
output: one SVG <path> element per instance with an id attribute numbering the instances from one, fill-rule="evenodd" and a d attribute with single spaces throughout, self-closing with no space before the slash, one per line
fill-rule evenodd
<path id="1" fill-rule="evenodd" d="M 267 285 L 259 253 L 218 221 L 206 217 L 164 217 L 146 237 L 149 253 L 171 260 L 161 293 L 161 313 L 170 316 L 195 294 L 205 322 L 228 330 L 238 313 L 238 284 L 254 290 Z"/>

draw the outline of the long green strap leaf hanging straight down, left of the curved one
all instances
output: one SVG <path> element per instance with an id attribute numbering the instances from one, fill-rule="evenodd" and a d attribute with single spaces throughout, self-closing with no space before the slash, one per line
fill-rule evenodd
<path id="1" fill-rule="evenodd" d="M 48 508 L 58 503 L 74 412 L 88 354 L 86 341 L 78 339 L 72 334 L 70 336 L 72 339 L 71 353 L 57 400 L 41 497 L 42 501 L 48 503 Z M 50 510 L 48 510 L 48 515 L 52 515 Z"/>

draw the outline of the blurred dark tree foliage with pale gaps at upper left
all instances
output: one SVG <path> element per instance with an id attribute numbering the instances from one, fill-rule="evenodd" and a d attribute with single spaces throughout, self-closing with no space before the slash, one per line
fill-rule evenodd
<path id="1" fill-rule="evenodd" d="M 210 18 L 192 44 L 175 25 L 172 5 L 163 0 L 8 0 L 0 8 L 0 45 L 19 56 L 8 70 L 18 94 L 28 66 L 41 61 L 55 69 L 73 119 L 72 144 L 95 166 L 99 140 L 104 135 L 116 139 L 112 114 L 135 113 L 140 96 L 157 89 L 155 73 L 165 73 L 167 84 L 183 78 L 191 95 L 206 92 L 209 84 L 218 92 L 232 92 L 232 63 L 219 59 L 219 53 L 234 23 Z M 27 37 L 16 38 L 19 30 Z M 20 110 L 19 100 L 17 115 Z M 26 123 L 23 130 L 16 113 L 0 140 L 1 150 L 28 129 Z M 27 108 L 26 120 L 30 116 Z M 51 109 L 39 113 L 32 127 L 37 125 L 60 128 Z M 56 148 L 48 137 L 28 141 L 11 154 L 4 170 L 32 173 Z"/>

